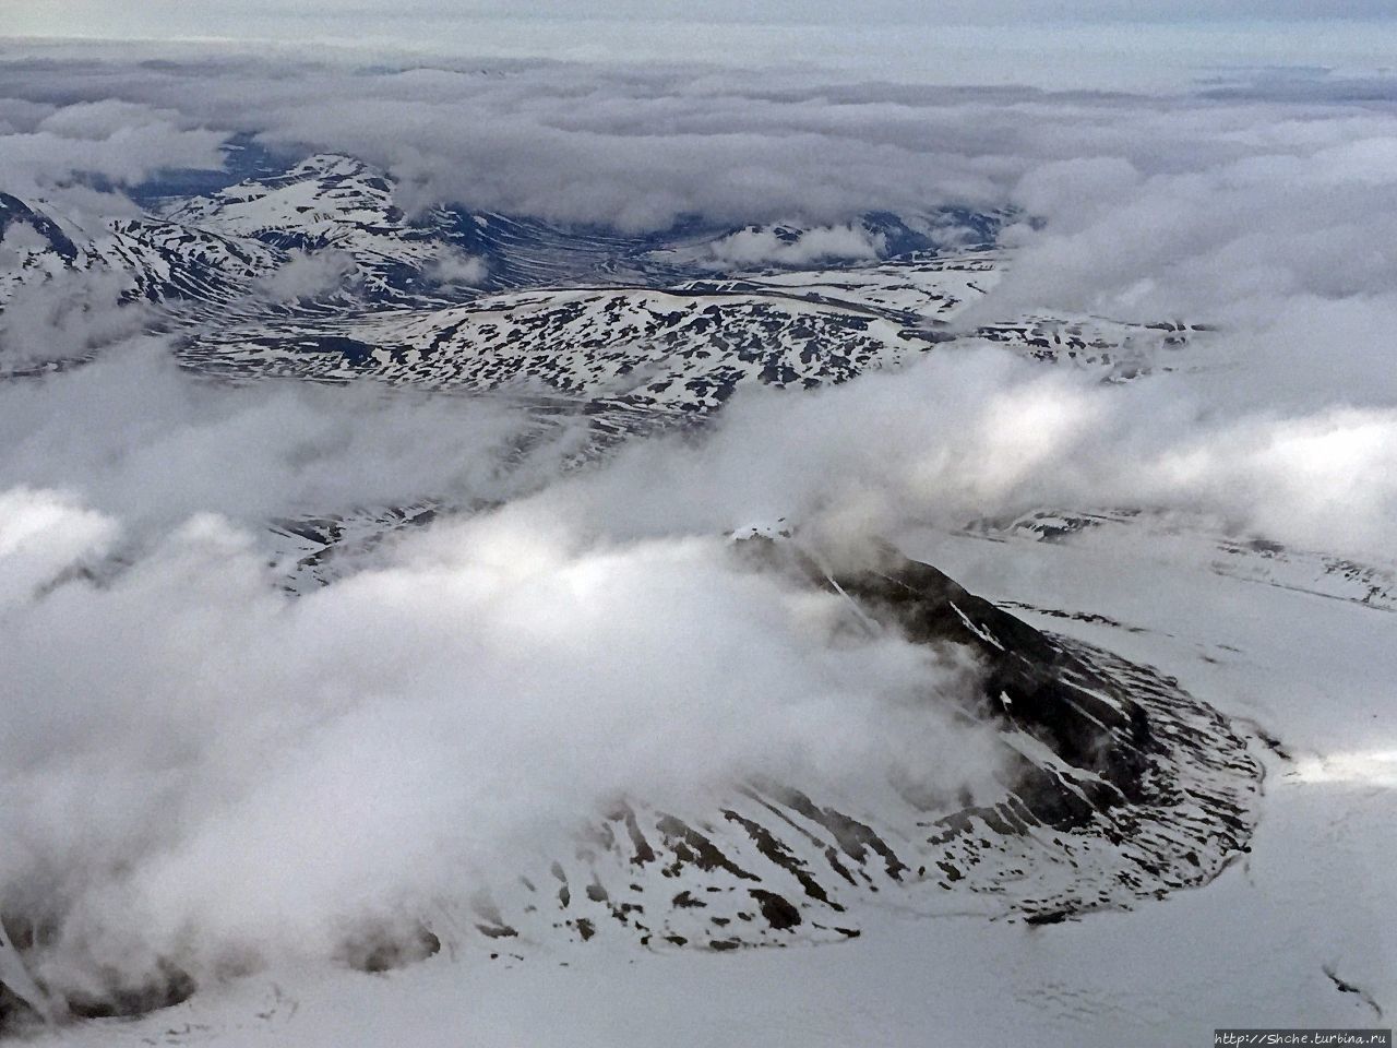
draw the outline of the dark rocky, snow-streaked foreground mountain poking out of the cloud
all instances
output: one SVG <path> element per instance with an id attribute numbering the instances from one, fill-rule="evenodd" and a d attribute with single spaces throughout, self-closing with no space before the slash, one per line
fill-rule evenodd
<path id="1" fill-rule="evenodd" d="M 735 539 L 732 555 L 841 595 L 851 630 L 894 630 L 979 668 L 972 693 L 929 689 L 921 701 L 993 725 L 992 795 L 940 792 L 912 767 L 858 791 L 757 777 L 683 805 L 619 796 L 534 866 L 493 871 L 468 898 L 366 919 L 337 959 L 384 971 L 444 947 L 485 963 L 608 942 L 816 945 L 858 938 L 888 911 L 1034 926 L 1206 883 L 1248 848 L 1261 784 L 1249 728 L 1176 681 L 1042 633 L 891 548 L 868 569 L 831 574 L 798 537 L 771 534 Z M 42 925 L 7 914 L 7 928 L 8 960 L 42 967 Z M 0 1017 L 18 1020 L 27 988 L 11 980 L 10 989 Z M 196 989 L 168 956 L 154 974 L 82 973 L 49 994 L 54 1009 L 94 1017 Z"/>

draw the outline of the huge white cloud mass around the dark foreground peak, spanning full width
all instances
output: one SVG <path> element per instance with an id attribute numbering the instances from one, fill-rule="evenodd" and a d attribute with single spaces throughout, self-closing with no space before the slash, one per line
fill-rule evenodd
<path id="1" fill-rule="evenodd" d="M 964 667 L 746 573 L 735 524 L 799 520 L 835 560 L 1045 502 L 1397 538 L 1391 408 L 1208 419 L 1206 384 L 989 351 L 745 397 L 701 442 L 513 479 L 525 423 L 488 404 L 204 387 L 133 349 L 0 395 L 0 675 L 24 697 L 0 907 L 50 929 L 31 964 L 66 994 L 140 987 L 161 957 L 197 980 L 330 957 L 617 795 L 683 806 L 756 771 L 988 789 L 992 745 L 951 714 Z M 443 490 L 514 497 L 277 588 L 263 514 Z"/>

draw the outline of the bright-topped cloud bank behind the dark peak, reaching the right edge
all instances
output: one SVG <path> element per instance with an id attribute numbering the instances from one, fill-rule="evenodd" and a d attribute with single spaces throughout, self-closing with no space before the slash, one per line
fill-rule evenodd
<path id="1" fill-rule="evenodd" d="M 634 447 L 539 497 L 581 500 L 584 517 L 630 537 L 787 517 L 854 551 L 914 525 L 1134 506 L 1386 560 L 1393 400 L 1281 407 L 1267 387 L 1257 398 L 1217 386 L 1217 372 L 1102 386 L 999 349 L 946 351 L 814 394 L 739 397 L 703 444 Z"/>

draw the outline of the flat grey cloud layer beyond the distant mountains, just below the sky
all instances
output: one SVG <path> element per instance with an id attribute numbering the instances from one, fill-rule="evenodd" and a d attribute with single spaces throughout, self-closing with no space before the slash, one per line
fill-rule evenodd
<path id="1" fill-rule="evenodd" d="M 1380 177 L 1380 140 L 1391 134 L 1386 113 L 1343 102 L 970 91 L 838 71 L 718 75 L 678 66 L 460 60 L 426 67 L 401 57 L 365 64 L 367 56 L 353 53 L 307 61 L 237 52 L 141 64 L 138 54 L 117 52 L 109 61 L 84 52 L 47 64 L 17 57 L 0 63 L 0 95 L 74 110 L 49 112 L 34 129 L 47 122 L 67 134 L 96 134 L 103 119 L 122 119 L 133 140 L 173 137 L 152 148 L 163 166 L 208 163 L 219 134 L 257 133 L 288 155 L 338 150 L 387 169 L 401 182 L 398 203 L 412 212 L 447 201 L 627 231 L 686 215 L 837 228 L 868 210 L 915 214 L 1018 200 L 1056 219 L 1060 232 L 1085 222 L 1087 211 L 1076 208 L 1088 197 L 1115 200 L 1130 189 L 1125 177 L 1133 180 L 1139 212 L 1130 218 L 1140 232 L 1102 228 L 1101 236 L 1143 252 L 1153 246 L 1144 232 L 1158 221 L 1154 212 L 1189 208 L 1199 212 L 1196 225 L 1217 224 L 1225 197 L 1210 194 L 1248 191 L 1236 182 L 1246 165 L 1308 165 L 1313 177 L 1361 194 L 1362 183 L 1344 172 L 1366 163 L 1366 177 Z M 92 102 L 92 92 L 109 98 Z M 94 151 L 94 140 L 31 129 L 8 137 L 6 154 L 21 157 L 42 136 L 61 148 L 45 138 L 52 150 L 32 161 L 42 170 L 31 182 L 71 177 L 81 165 L 68 152 Z M 1343 152 L 1365 138 L 1372 141 L 1362 148 L 1375 152 Z M 109 152 L 116 155 L 101 166 L 110 177 L 138 179 L 154 161 L 141 152 L 138 163 L 126 163 L 115 145 Z M 1305 204 L 1324 217 L 1351 207 L 1323 207 L 1317 193 Z M 1109 211 L 1126 219 L 1123 208 Z M 1229 228 L 1238 222 L 1221 225 Z M 1078 250 L 1098 249 L 1084 240 Z M 1069 272 L 1078 268 L 1073 263 Z"/>

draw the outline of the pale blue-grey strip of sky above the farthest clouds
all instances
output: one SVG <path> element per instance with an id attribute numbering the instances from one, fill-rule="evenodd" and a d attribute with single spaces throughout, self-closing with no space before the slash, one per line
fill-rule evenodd
<path id="1" fill-rule="evenodd" d="M 0 0 L 0 36 L 678 57 L 935 82 L 1139 87 L 1222 66 L 1389 66 L 1397 15 L 1390 0 Z"/>

